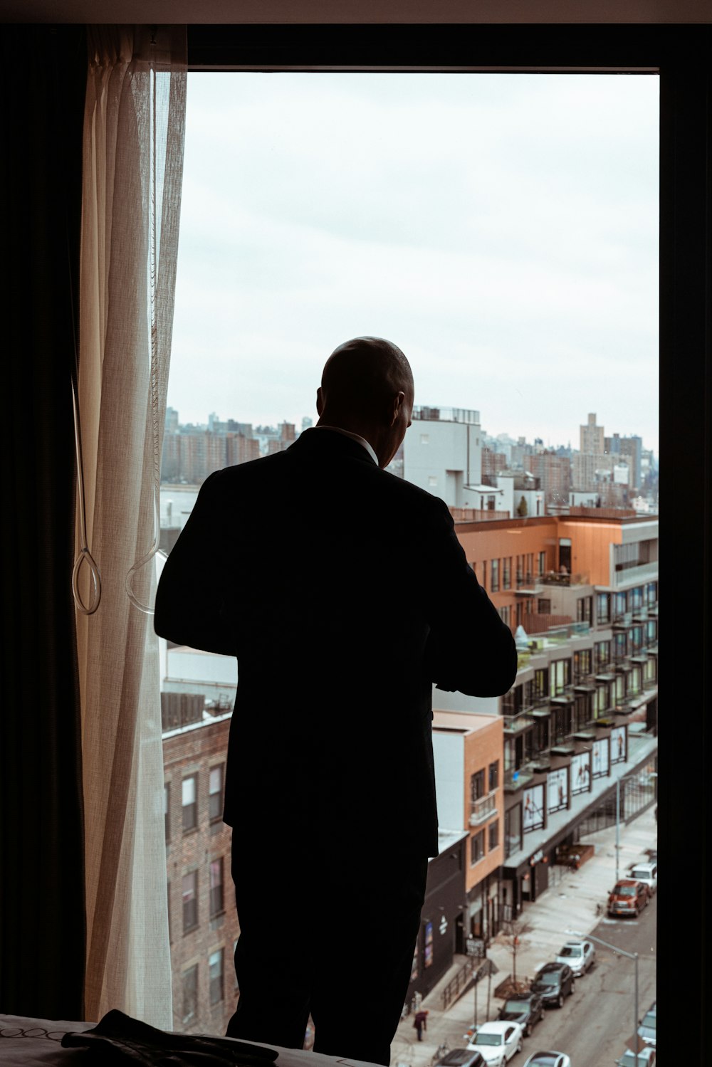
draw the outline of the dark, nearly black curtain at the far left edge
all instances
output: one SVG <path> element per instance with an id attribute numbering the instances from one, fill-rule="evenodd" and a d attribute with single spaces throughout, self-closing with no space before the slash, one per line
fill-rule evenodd
<path id="1" fill-rule="evenodd" d="M 0 1010 L 81 1019 L 70 371 L 85 31 L 5 25 L 0 49 Z"/>

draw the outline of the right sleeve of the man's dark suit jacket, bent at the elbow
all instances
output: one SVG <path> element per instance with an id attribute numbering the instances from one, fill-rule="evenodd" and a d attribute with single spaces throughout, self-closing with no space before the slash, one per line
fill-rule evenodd
<path id="1" fill-rule="evenodd" d="M 438 505 L 425 550 L 430 679 L 439 689 L 499 697 L 517 676 L 515 639 L 468 563 L 449 511 Z"/>

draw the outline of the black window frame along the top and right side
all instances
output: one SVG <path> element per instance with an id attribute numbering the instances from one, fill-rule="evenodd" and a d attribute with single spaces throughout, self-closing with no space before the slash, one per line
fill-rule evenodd
<path id="1" fill-rule="evenodd" d="M 699 14 L 699 13 L 698 13 Z M 296 17 L 299 17 L 298 15 Z M 487 16 L 485 16 L 487 17 Z M 258 23 L 187 27 L 189 70 L 225 69 L 382 69 L 476 70 L 516 73 L 584 70 L 660 75 L 661 114 L 661 480 L 675 484 L 686 509 L 686 566 L 692 573 L 712 570 L 712 542 L 706 516 L 712 510 L 712 490 L 706 478 L 712 413 L 709 322 L 712 293 L 708 284 L 712 259 L 712 77 L 709 65 L 711 28 L 689 11 L 673 17 L 662 13 L 655 23 L 582 22 L 488 25 L 397 21 L 379 25 Z M 624 13 L 620 13 L 624 17 Z M 663 21 L 663 19 L 667 19 Z M 687 18 L 695 25 L 685 25 Z M 685 375 L 679 373 L 684 352 Z M 660 515 L 661 570 L 673 573 L 679 516 L 674 508 Z M 673 731 L 659 754 L 659 850 L 668 870 L 682 869 L 691 855 L 707 854 L 695 821 L 678 817 L 676 805 L 684 795 L 692 810 L 706 807 L 705 768 L 712 761 L 712 739 L 701 730 L 701 708 L 709 704 L 710 674 L 706 657 L 690 657 L 689 634 L 712 627 L 712 592 L 703 585 L 671 582 L 664 590 L 666 611 L 685 620 L 670 626 L 666 642 L 667 669 L 660 696 L 668 706 L 681 703 L 694 710 L 691 727 L 700 743 L 691 746 L 690 731 Z M 675 680 L 675 690 L 673 689 Z M 700 699 L 701 695 L 701 699 Z M 683 769 L 684 768 L 684 769 Z M 682 775 L 684 774 L 684 779 Z M 659 901 L 665 899 L 661 886 Z M 671 907 L 671 901 L 668 906 Z M 698 894 L 687 906 L 695 928 L 707 929 L 705 901 Z M 674 924 L 671 924 L 674 925 Z M 686 959 L 701 975 L 689 996 L 689 1008 L 702 1018 L 709 977 L 706 937 L 686 947 Z M 675 1002 L 679 945 L 670 929 L 661 927 L 656 955 L 659 997 Z M 659 1044 L 670 1055 L 700 1062 L 700 1028 L 673 1034 L 663 1024 Z"/>

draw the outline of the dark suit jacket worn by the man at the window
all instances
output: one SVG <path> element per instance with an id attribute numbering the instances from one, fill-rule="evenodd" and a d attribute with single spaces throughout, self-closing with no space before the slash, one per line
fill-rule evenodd
<path id="1" fill-rule="evenodd" d="M 326 429 L 204 482 L 155 628 L 237 656 L 224 817 L 246 845 L 436 856 L 432 683 L 492 696 L 517 672 L 445 504 Z"/>

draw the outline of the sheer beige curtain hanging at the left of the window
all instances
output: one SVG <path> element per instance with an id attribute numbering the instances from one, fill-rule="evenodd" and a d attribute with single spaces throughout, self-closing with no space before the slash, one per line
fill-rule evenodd
<path id="1" fill-rule="evenodd" d="M 180 213 L 185 28 L 90 27 L 89 59 L 78 392 L 100 601 L 93 614 L 77 612 L 84 1018 L 121 1008 L 171 1029 L 158 646 L 146 608 Z M 77 531 L 79 552 L 79 516 Z M 89 566 L 78 586 L 91 604 Z"/>

